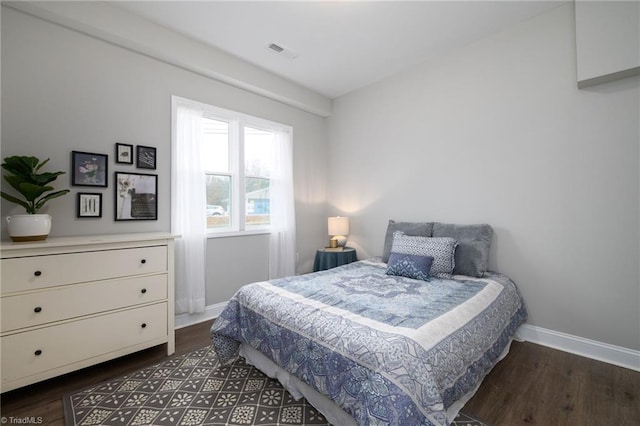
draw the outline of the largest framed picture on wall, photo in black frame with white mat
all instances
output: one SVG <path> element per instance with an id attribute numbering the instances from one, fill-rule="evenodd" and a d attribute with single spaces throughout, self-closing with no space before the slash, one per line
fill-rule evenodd
<path id="1" fill-rule="evenodd" d="M 158 175 L 115 172 L 116 220 L 158 219 Z"/>

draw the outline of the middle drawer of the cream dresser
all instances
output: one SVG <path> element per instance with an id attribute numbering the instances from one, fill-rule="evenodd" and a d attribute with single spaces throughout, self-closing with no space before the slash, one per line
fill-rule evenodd
<path id="1" fill-rule="evenodd" d="M 160 301 L 167 298 L 167 281 L 158 274 L 4 296 L 2 332 Z"/>

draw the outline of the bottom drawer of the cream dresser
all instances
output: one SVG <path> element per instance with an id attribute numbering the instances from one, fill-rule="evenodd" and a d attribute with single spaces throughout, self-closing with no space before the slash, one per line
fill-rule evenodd
<path id="1" fill-rule="evenodd" d="M 11 382 L 167 337 L 167 304 L 134 308 L 2 337 L 2 382 Z"/>

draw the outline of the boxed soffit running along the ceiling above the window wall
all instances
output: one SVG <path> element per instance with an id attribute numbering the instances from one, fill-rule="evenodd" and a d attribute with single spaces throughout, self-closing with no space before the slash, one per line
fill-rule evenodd
<path id="1" fill-rule="evenodd" d="M 9 7 L 322 117 L 331 100 L 123 9 L 113 1 L 11 1 Z M 126 5 L 125 5 L 126 6 Z M 135 10 L 135 8 L 134 8 Z"/>

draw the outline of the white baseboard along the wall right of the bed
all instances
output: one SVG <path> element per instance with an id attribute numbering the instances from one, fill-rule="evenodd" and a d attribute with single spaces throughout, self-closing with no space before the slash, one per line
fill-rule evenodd
<path id="1" fill-rule="evenodd" d="M 607 362 L 640 371 L 640 351 L 610 345 L 559 331 L 524 324 L 518 328 L 517 338 L 564 352 Z"/>

